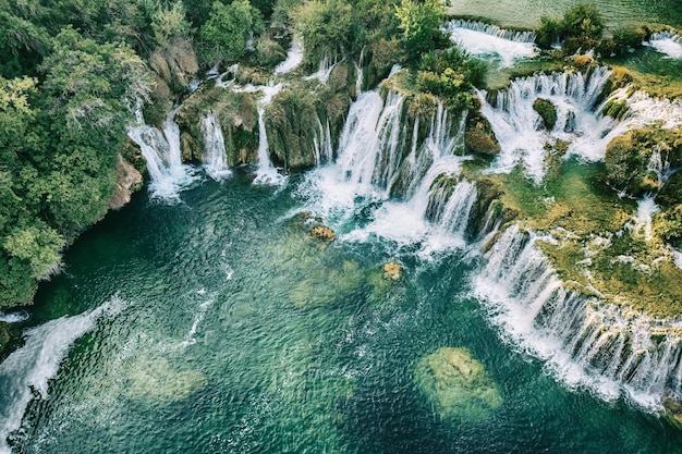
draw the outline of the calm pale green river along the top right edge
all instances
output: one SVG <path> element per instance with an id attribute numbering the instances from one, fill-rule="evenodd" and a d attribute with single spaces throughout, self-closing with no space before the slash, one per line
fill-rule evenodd
<path id="1" fill-rule="evenodd" d="M 680 0 L 451 0 L 450 14 L 487 17 L 508 27 L 534 28 L 540 16 L 560 17 L 582 3 L 595 4 L 607 26 L 616 29 L 641 24 L 682 27 Z"/>

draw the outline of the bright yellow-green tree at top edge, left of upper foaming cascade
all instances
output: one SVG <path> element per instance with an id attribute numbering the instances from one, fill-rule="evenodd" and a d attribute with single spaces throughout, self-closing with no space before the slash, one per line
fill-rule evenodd
<path id="1" fill-rule="evenodd" d="M 409 52 L 419 54 L 437 48 L 442 36 L 439 27 L 444 19 L 440 0 L 402 0 L 400 7 L 395 7 L 395 16 Z"/>

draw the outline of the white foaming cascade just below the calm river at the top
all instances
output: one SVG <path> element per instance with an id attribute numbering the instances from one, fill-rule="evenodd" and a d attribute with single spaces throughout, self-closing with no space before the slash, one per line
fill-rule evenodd
<path id="1" fill-rule="evenodd" d="M 537 53 L 533 32 L 506 30 L 483 22 L 463 20 L 447 23 L 443 30 L 468 53 L 499 61 L 504 68 Z"/>

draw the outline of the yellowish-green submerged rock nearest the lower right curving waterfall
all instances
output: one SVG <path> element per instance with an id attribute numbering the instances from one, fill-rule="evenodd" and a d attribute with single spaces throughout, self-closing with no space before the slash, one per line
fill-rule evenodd
<path id="1" fill-rule="evenodd" d="M 467 348 L 442 347 L 422 358 L 417 388 L 442 419 L 478 421 L 502 405 L 498 385 Z"/>

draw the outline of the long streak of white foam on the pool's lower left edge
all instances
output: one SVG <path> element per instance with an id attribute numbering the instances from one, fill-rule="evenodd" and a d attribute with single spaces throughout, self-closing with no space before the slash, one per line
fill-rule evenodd
<path id="1" fill-rule="evenodd" d="M 102 316 L 112 317 L 125 303 L 119 297 L 94 310 L 73 317 L 62 317 L 27 330 L 25 344 L 0 364 L 0 454 L 9 454 L 8 437 L 21 427 L 32 400 L 49 398 L 49 381 L 57 375 L 71 345 L 95 329 Z"/>

